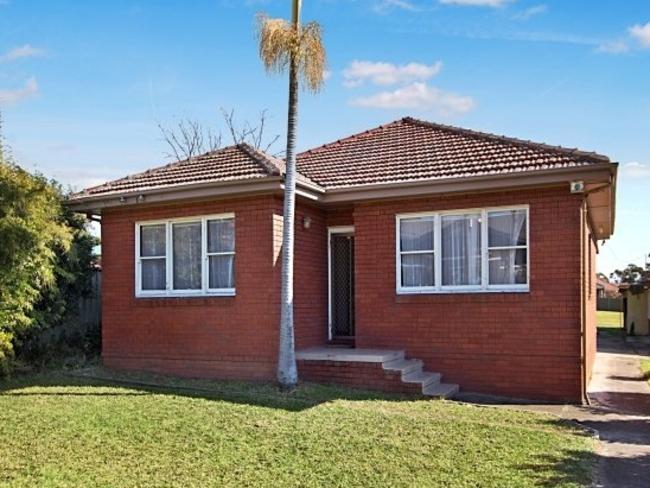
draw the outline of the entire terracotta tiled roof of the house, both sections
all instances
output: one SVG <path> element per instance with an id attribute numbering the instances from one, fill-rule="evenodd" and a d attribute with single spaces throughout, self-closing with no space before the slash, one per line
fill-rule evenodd
<path id="1" fill-rule="evenodd" d="M 608 163 L 596 153 L 406 117 L 298 155 L 298 181 L 322 188 L 462 178 Z M 247 144 L 88 188 L 70 200 L 281 176 L 285 162 Z"/>

